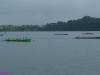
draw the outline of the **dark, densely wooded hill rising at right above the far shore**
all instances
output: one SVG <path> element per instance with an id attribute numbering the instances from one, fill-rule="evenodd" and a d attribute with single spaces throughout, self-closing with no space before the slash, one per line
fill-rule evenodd
<path id="1" fill-rule="evenodd" d="M 48 30 L 60 31 L 99 31 L 100 18 L 84 16 L 82 19 L 57 22 L 46 25 Z"/>

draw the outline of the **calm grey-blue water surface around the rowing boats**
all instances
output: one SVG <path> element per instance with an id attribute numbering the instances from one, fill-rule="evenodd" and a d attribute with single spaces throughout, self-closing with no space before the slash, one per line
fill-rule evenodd
<path id="1" fill-rule="evenodd" d="M 92 31 L 99 36 L 99 31 Z M 3 32 L 0 32 L 2 34 Z M 54 35 L 57 33 L 68 35 Z M 100 75 L 100 39 L 85 32 L 6 32 L 0 36 L 0 72 L 9 75 Z M 7 38 L 32 42 L 4 42 Z"/>

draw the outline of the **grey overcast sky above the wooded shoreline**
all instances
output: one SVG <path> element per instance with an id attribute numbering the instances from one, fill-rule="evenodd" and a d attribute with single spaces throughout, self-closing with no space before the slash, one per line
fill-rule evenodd
<path id="1" fill-rule="evenodd" d="M 0 0 L 0 25 L 45 25 L 100 18 L 100 0 Z"/>

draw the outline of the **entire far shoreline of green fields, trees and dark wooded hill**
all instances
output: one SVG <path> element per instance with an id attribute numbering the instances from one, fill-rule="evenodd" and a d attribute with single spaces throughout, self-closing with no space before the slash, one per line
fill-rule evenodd
<path id="1" fill-rule="evenodd" d="M 58 21 L 46 25 L 1 25 L 0 31 L 100 31 L 100 18 L 84 16 L 82 19 Z"/>

